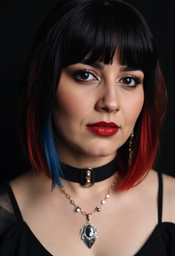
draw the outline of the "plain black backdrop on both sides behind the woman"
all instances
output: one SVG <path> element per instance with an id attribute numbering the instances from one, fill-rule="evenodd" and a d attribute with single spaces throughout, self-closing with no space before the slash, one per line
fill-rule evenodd
<path id="1" fill-rule="evenodd" d="M 126 0 L 147 20 L 158 43 L 159 59 L 168 91 L 168 110 L 161 132 L 157 171 L 175 177 L 174 0 Z M 30 168 L 23 157 L 16 130 L 16 106 L 23 66 L 45 16 L 58 0 L 0 0 L 0 184 Z"/>

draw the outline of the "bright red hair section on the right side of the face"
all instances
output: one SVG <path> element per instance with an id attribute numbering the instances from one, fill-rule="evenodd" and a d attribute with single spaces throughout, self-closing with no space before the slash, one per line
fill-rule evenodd
<path id="1" fill-rule="evenodd" d="M 138 127 L 133 146 L 133 164 L 130 167 L 124 163 L 120 149 L 118 150 L 119 173 L 121 177 L 124 177 L 119 185 L 119 191 L 129 190 L 140 184 L 156 163 L 159 132 L 167 110 L 167 90 L 159 62 L 157 63 L 155 106 L 154 113 L 152 113 L 148 101 L 143 107 L 141 125 Z"/>

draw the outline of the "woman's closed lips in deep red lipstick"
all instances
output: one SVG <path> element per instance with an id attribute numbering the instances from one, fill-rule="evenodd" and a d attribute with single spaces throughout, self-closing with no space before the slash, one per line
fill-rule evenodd
<path id="1" fill-rule="evenodd" d="M 119 126 L 116 123 L 104 121 L 88 124 L 86 128 L 99 136 L 113 136 L 119 131 Z"/>

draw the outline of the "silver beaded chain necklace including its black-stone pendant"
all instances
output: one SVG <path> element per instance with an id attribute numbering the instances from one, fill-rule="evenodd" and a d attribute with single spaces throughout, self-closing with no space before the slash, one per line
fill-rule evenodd
<path id="1" fill-rule="evenodd" d="M 101 201 L 101 204 L 96 206 L 96 208 L 92 212 L 90 212 L 89 214 L 82 211 L 82 209 L 78 205 L 76 205 L 75 202 L 72 200 L 72 198 L 67 194 L 66 190 L 64 188 L 61 188 L 61 190 L 65 193 L 66 198 L 68 198 L 71 201 L 71 204 L 75 206 L 75 211 L 76 212 L 81 212 L 83 215 L 86 215 L 86 217 L 87 217 L 87 223 L 81 229 L 80 235 L 81 235 L 81 238 L 84 241 L 85 245 L 88 246 L 88 248 L 91 248 L 92 245 L 94 244 L 96 238 L 98 238 L 98 236 L 97 236 L 98 230 L 95 228 L 94 225 L 91 224 L 90 215 L 94 214 L 95 212 L 100 212 L 102 210 L 101 206 L 103 204 L 105 204 L 107 198 L 110 197 L 112 189 L 114 188 L 114 185 L 115 185 L 116 180 L 117 180 L 116 178 L 118 178 L 118 177 L 119 177 L 119 175 L 118 175 L 118 173 L 116 173 L 113 184 L 111 185 L 110 190 L 107 192 L 106 197 Z"/>

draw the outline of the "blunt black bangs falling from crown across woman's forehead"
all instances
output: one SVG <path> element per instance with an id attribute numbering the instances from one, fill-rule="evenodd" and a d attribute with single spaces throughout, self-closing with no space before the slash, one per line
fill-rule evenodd
<path id="1" fill-rule="evenodd" d="M 112 64 L 117 52 L 122 65 L 154 70 L 158 56 L 152 34 L 137 10 L 122 1 L 78 1 L 65 18 L 62 67 L 83 59 Z"/>

